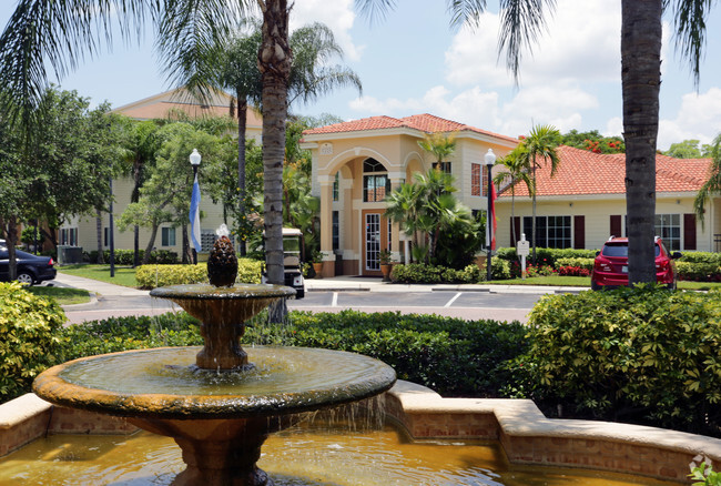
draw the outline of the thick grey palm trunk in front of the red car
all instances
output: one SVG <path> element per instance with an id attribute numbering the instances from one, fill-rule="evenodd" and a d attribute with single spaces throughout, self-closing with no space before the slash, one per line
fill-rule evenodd
<path id="1" fill-rule="evenodd" d="M 662 0 L 621 2 L 629 284 L 656 282 L 656 143 L 661 85 Z"/>

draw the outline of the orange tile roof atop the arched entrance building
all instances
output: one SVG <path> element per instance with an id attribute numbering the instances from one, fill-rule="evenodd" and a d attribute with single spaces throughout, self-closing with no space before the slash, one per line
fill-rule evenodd
<path id="1" fill-rule="evenodd" d="M 405 118 L 392 118 L 392 117 L 364 118 L 360 120 L 353 120 L 343 123 L 335 123 L 332 125 L 319 126 L 317 129 L 306 130 L 303 132 L 303 134 L 315 135 L 315 134 L 326 134 L 326 133 L 345 133 L 345 132 L 358 132 L 365 130 L 384 130 L 384 129 L 397 129 L 397 128 L 414 129 L 424 133 L 469 131 L 469 132 L 480 133 L 484 135 L 490 135 L 499 139 L 518 142 L 518 140 L 514 139 L 512 136 L 500 135 L 498 133 L 480 130 L 475 126 L 470 126 L 464 123 L 458 123 L 451 120 L 446 120 L 428 113 L 414 114 L 412 117 L 405 117 Z"/>

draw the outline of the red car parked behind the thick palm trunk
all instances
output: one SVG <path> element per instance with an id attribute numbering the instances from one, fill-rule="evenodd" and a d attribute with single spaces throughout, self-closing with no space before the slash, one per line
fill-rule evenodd
<path id="1" fill-rule="evenodd" d="M 660 237 L 656 236 L 656 281 L 674 290 L 678 281 L 676 259 L 680 252 L 672 254 L 666 250 Z M 591 288 L 613 288 L 628 285 L 628 237 L 611 236 L 603 249 L 596 255 L 591 272 Z"/>

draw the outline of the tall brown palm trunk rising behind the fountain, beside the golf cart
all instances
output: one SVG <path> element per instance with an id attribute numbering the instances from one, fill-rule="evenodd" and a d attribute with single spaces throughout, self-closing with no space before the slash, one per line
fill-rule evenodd
<path id="1" fill-rule="evenodd" d="M 258 1 L 263 11 L 263 42 L 258 69 L 263 79 L 263 199 L 265 216 L 265 266 L 270 283 L 283 284 L 283 159 L 287 87 L 291 73 L 288 8 L 286 0 Z M 272 306 L 271 322 L 282 322 L 285 301 Z"/>

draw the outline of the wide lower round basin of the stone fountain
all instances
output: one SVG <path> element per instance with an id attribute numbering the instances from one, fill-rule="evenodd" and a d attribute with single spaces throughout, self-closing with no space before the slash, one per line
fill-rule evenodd
<path id="1" fill-rule="evenodd" d="M 248 350 L 254 369 L 216 373 L 194 367 L 199 350 L 79 358 L 43 372 L 33 391 L 57 405 L 122 417 L 213 419 L 333 407 L 375 396 L 395 383 L 388 365 L 354 353 L 256 346 Z"/>

